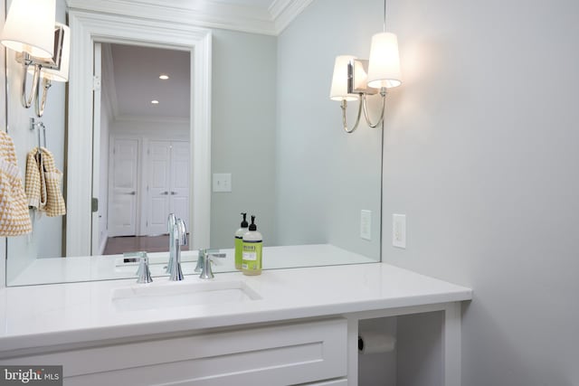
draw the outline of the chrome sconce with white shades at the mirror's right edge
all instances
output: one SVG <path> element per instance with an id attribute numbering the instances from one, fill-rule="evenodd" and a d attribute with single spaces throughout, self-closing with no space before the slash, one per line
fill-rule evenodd
<path id="1" fill-rule="evenodd" d="M 387 89 L 402 84 L 398 38 L 394 33 L 386 33 L 386 2 L 384 0 L 384 32 L 372 37 L 370 59 L 361 60 L 352 55 L 337 56 L 329 98 L 341 101 L 342 123 L 346 133 L 356 131 L 364 110 L 365 122 L 369 127 L 377 127 L 384 121 L 384 105 Z M 382 110 L 376 123 L 368 116 L 367 96 L 380 94 Z M 356 123 L 348 128 L 346 108 L 348 101 L 360 100 Z"/>

